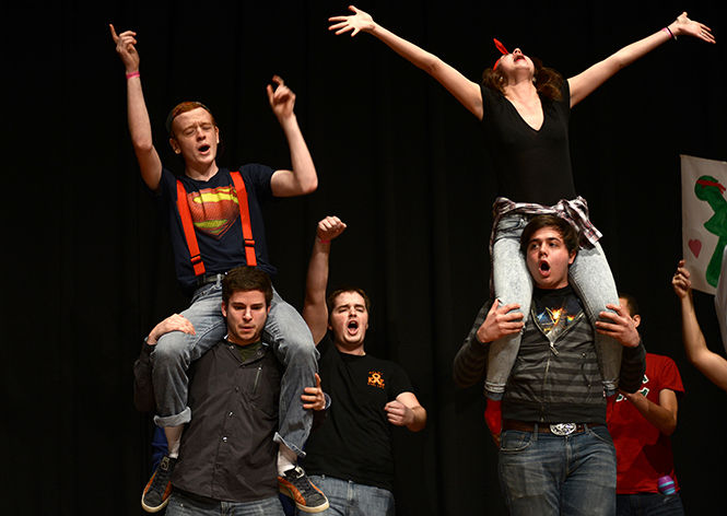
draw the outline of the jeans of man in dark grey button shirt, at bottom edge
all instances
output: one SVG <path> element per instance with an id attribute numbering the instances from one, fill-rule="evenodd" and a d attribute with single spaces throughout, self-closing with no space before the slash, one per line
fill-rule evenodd
<path id="1" fill-rule="evenodd" d="M 285 516 L 278 496 L 255 502 L 220 502 L 173 491 L 166 516 Z"/>

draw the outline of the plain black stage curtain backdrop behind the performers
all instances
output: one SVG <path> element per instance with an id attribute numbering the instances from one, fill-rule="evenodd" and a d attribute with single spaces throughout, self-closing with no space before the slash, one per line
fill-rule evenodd
<path id="1" fill-rule="evenodd" d="M 566 77 L 683 9 L 724 38 L 720 0 L 549 4 L 360 7 L 472 80 L 497 57 L 493 36 Z M 344 2 L 20 5 L 2 20 L 3 505 L 12 514 L 141 512 L 152 426 L 132 407 L 131 365 L 151 327 L 186 300 L 129 141 L 114 22 L 138 32 L 168 164 L 165 116 L 191 98 L 216 115 L 220 163 L 288 167 L 265 93 L 273 73 L 285 79 L 320 186 L 268 207 L 275 285 L 301 306 L 315 224 L 341 216 L 349 230 L 333 245 L 331 284 L 371 293 L 368 351 L 401 363 L 429 411 L 423 432 L 395 432 L 399 514 L 503 514 L 481 388 L 452 380 L 489 281 L 495 189 L 474 117 L 373 37 L 329 33 L 327 19 Z M 727 418 L 725 394 L 680 343 L 670 286 L 681 256 L 679 154 L 727 159 L 725 43 L 664 45 L 578 105 L 571 127 L 577 189 L 606 235 L 618 284 L 641 301 L 647 349 L 671 355 L 684 379 L 672 441 L 691 514 L 720 512 Z M 724 352 L 712 297 L 696 302 L 710 347 Z"/>

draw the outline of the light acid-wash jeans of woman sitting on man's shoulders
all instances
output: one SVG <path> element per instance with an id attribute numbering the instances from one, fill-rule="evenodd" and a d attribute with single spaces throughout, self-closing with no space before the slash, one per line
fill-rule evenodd
<path id="1" fill-rule="evenodd" d="M 501 305 L 517 303 L 524 321 L 530 317 L 532 278 L 520 253 L 520 235 L 530 215 L 514 213 L 503 216 L 497 223 L 492 246 L 492 273 L 495 297 Z M 598 320 L 607 303 L 619 304 L 619 294 L 606 255 L 599 244 L 581 247 L 568 270 L 568 283 L 583 303 L 591 322 Z M 517 352 L 520 333 L 505 336 L 490 344 L 485 391 L 488 397 L 501 399 Z M 595 333 L 598 363 L 608 396 L 615 392 L 621 368 L 622 345 L 610 337 Z"/>

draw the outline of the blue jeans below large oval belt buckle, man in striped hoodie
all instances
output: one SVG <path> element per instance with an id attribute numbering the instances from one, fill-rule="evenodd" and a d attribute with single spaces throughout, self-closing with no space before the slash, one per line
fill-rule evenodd
<path id="1" fill-rule="evenodd" d="M 615 449 L 608 429 L 566 436 L 504 431 L 500 483 L 513 516 L 613 516 Z"/>

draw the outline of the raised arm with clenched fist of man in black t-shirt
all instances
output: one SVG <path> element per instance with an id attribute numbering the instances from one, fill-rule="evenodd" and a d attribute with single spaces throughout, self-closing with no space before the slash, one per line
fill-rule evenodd
<path id="1" fill-rule="evenodd" d="M 303 304 L 303 319 L 308 325 L 316 344 L 320 342 L 328 329 L 326 286 L 328 285 L 330 242 L 344 230 L 345 224 L 338 216 L 327 216 L 318 222 L 316 230 L 316 242 L 313 245 L 313 254 L 308 263 Z"/>

